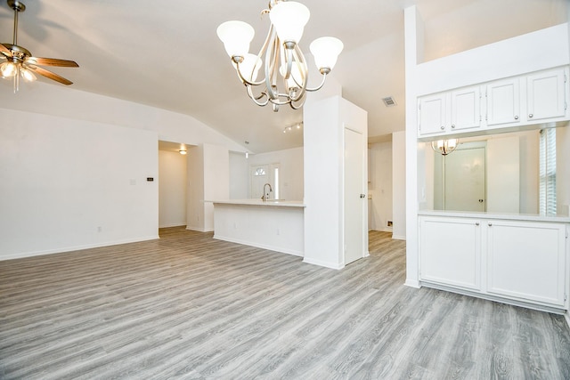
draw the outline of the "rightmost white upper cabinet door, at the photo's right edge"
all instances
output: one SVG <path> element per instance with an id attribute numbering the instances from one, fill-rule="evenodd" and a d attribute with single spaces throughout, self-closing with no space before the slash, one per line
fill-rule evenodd
<path id="1" fill-rule="evenodd" d="M 526 77 L 528 120 L 566 116 L 566 75 L 551 69 Z"/>

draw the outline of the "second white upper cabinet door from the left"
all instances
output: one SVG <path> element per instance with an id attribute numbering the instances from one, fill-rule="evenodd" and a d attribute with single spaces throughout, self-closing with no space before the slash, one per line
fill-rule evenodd
<path id="1" fill-rule="evenodd" d="M 481 91 L 478 85 L 452 92 L 452 130 L 481 125 Z"/>

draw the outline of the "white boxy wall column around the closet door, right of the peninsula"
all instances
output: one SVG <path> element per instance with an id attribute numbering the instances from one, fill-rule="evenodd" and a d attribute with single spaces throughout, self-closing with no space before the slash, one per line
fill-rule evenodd
<path id="1" fill-rule="evenodd" d="M 344 129 L 362 131 L 365 143 L 367 117 L 340 96 L 305 104 L 305 263 L 344 267 Z"/>

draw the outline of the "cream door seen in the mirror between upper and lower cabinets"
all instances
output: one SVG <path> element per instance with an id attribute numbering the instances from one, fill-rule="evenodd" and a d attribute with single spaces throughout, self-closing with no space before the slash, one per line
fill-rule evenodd
<path id="1" fill-rule="evenodd" d="M 444 210 L 485 211 L 485 148 L 444 157 Z"/>

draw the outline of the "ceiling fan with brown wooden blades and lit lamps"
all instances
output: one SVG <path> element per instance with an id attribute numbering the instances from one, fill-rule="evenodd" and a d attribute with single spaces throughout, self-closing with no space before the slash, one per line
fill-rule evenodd
<path id="1" fill-rule="evenodd" d="M 0 44 L 0 59 L 6 61 L 0 64 L 0 76 L 14 78 L 14 93 L 18 91 L 20 77 L 27 82 L 36 80 L 34 74 L 47 77 L 62 85 L 71 85 L 73 82 L 53 73 L 40 66 L 59 66 L 66 68 L 78 68 L 75 61 L 58 60 L 56 58 L 38 58 L 32 56 L 28 49 L 18 45 L 18 13 L 26 10 L 26 5 L 18 0 L 8 0 L 8 6 L 14 10 L 14 34 L 12 44 Z"/>

